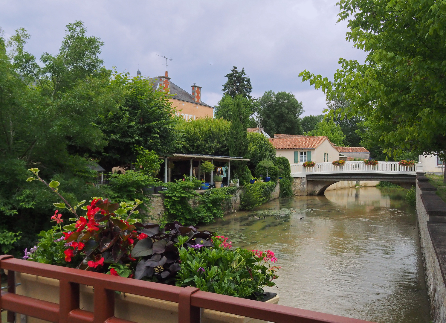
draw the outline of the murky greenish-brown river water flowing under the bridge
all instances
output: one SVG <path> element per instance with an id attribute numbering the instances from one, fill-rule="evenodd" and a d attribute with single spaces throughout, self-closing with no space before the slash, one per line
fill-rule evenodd
<path id="1" fill-rule="evenodd" d="M 272 250 L 279 304 L 388 323 L 429 322 L 414 207 L 402 189 L 276 199 L 200 227 Z M 303 219 L 301 219 L 303 218 Z"/>

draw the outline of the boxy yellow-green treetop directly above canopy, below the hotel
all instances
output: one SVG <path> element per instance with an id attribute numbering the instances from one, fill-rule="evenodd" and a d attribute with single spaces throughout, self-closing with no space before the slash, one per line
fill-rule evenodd
<path id="1" fill-rule="evenodd" d="M 231 97 L 230 99 L 232 100 Z M 177 128 L 184 135 L 183 153 L 229 155 L 230 121 L 213 119 L 207 116 L 195 120 L 182 121 Z"/>

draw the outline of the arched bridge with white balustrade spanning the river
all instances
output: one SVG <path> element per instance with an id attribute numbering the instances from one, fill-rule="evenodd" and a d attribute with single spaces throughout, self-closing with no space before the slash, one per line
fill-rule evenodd
<path id="1" fill-rule="evenodd" d="M 417 173 L 423 172 L 422 164 L 401 166 L 399 162 L 346 162 L 342 166 L 331 162 L 316 163 L 314 167 L 291 165 L 294 191 L 297 195 L 321 195 L 331 184 L 339 181 L 386 181 L 405 188 L 415 185 Z"/>

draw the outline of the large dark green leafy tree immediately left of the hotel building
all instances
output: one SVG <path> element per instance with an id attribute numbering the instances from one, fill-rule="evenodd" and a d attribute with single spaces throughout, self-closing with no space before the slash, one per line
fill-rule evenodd
<path id="1" fill-rule="evenodd" d="M 176 153 L 182 147 L 182 133 L 177 130 L 180 117 L 165 96 L 153 91 L 150 79 L 115 74 L 111 89 L 120 93 L 117 108 L 99 116 L 99 129 L 107 146 L 95 156 L 106 170 L 136 161 L 136 146 L 158 154 Z"/>

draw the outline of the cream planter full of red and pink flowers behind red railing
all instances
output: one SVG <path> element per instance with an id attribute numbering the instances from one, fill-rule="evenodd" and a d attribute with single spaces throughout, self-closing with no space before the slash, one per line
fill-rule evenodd
<path id="1" fill-rule="evenodd" d="M 48 184 L 38 176 L 37 169 L 32 170 L 37 178 L 29 178 L 28 181 L 38 179 L 63 199 L 57 190 L 58 182 Z M 85 201 L 75 207 L 71 207 L 65 199 L 63 201 L 54 205 L 68 211 L 73 218 L 64 222 L 56 210 L 51 218 L 56 224 L 52 229 L 41 232 L 38 244 L 29 251 L 25 250 L 24 259 L 128 279 L 145 279 L 182 287 L 196 286 L 211 292 L 224 290 L 222 294 L 278 302 L 277 295 L 267 300 L 263 290 L 265 286 L 275 286 L 273 280 L 277 278 L 280 268 L 274 265 L 277 258 L 270 250 L 232 248 L 232 243 L 224 236 L 215 236 L 208 231 L 199 232 L 192 226 L 183 227 L 178 222 L 165 224 L 164 228 L 158 224 L 142 224 L 140 219 L 135 218 L 140 201 L 118 204 L 95 198 L 82 207 L 85 213 L 80 211 Z M 218 257 L 210 258 L 209 253 L 218 254 Z M 236 268 L 231 265 L 232 261 L 245 265 Z M 228 274 L 243 278 L 243 286 L 227 280 Z M 208 278 L 211 275 L 210 281 Z M 195 276 L 199 279 L 195 279 Z M 211 283 L 202 286 L 198 284 L 200 281 Z M 58 280 L 17 272 L 16 282 L 21 283 L 17 286 L 17 294 L 57 303 Z M 118 304 L 115 315 L 118 318 L 140 321 L 151 313 L 162 322 L 177 320 L 173 315 L 178 313 L 177 303 L 124 293 L 115 294 L 115 299 Z M 81 286 L 80 303 L 81 308 L 92 311 L 91 286 Z M 244 317 L 234 320 L 234 315 L 208 310 L 202 311 L 202 318 L 211 322 L 250 321 Z M 27 322 L 37 320 L 28 318 Z"/>

